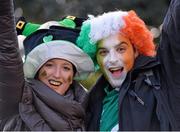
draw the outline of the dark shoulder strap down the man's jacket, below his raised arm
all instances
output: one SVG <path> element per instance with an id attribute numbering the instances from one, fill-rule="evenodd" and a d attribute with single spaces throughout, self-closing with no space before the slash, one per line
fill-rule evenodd
<path id="1" fill-rule="evenodd" d="M 146 76 L 145 82 L 148 85 L 153 87 L 153 93 L 155 97 L 157 98 L 157 102 L 159 102 L 163 106 L 163 110 L 165 111 L 169 119 L 169 123 L 172 129 L 176 129 L 177 125 L 176 125 L 175 118 L 172 114 L 172 111 L 170 110 L 167 98 L 165 97 L 165 93 L 163 93 L 161 85 L 160 85 L 159 71 L 157 71 L 156 74 L 154 74 L 153 70 L 150 69 L 147 72 L 144 72 L 144 74 Z"/>

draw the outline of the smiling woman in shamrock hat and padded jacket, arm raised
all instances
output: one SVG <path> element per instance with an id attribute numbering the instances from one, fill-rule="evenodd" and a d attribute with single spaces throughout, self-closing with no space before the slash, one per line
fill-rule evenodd
<path id="1" fill-rule="evenodd" d="M 12 0 L 0 1 L 1 130 L 84 130 L 85 90 L 73 80 L 93 71 L 69 29 L 39 30 L 17 49 Z M 26 80 L 24 78 L 27 78 Z"/>

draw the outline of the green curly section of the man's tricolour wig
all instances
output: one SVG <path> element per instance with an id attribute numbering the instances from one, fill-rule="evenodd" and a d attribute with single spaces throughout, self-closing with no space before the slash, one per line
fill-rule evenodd
<path id="1" fill-rule="evenodd" d="M 81 32 L 76 40 L 77 46 L 81 48 L 86 54 L 88 54 L 94 62 L 95 69 L 98 70 L 99 66 L 96 60 L 96 50 L 97 44 L 92 42 L 89 35 L 91 31 L 90 21 L 86 21 L 83 23 L 81 27 Z"/>

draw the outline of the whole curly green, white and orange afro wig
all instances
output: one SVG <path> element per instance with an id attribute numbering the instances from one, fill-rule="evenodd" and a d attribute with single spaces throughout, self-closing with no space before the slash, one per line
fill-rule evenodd
<path id="1" fill-rule="evenodd" d="M 96 44 L 114 34 L 122 34 L 129 38 L 142 55 L 154 56 L 156 54 L 152 33 L 134 11 L 114 11 L 91 17 L 83 22 L 77 44 L 98 66 Z"/>

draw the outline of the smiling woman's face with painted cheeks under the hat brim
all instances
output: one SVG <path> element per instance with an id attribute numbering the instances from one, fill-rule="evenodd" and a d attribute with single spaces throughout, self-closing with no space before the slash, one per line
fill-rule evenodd
<path id="1" fill-rule="evenodd" d="M 38 79 L 57 93 L 64 95 L 73 82 L 73 65 L 63 59 L 47 61 L 38 72 Z"/>

